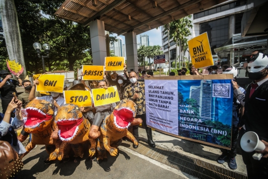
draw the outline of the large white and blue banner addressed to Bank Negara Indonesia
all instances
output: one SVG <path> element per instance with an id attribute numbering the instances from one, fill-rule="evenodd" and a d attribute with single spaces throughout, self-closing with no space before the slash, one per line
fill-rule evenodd
<path id="1" fill-rule="evenodd" d="M 231 79 L 207 78 L 145 80 L 147 125 L 175 137 L 230 149 Z"/>

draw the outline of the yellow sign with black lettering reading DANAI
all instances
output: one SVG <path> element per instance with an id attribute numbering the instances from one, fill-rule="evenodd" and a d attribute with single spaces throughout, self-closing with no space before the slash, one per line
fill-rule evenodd
<path id="1" fill-rule="evenodd" d="M 92 89 L 92 96 L 94 106 L 111 104 L 113 102 L 120 101 L 116 86 L 109 87 L 108 89 Z"/>

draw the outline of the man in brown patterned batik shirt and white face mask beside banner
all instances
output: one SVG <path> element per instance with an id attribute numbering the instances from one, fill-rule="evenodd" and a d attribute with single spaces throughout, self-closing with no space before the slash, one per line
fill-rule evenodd
<path id="1" fill-rule="evenodd" d="M 133 100 L 137 105 L 137 113 L 136 118 L 142 119 L 142 125 L 145 127 L 147 138 L 148 138 L 148 144 L 155 148 L 155 143 L 152 140 L 152 129 L 147 127 L 146 124 L 146 111 L 145 111 L 145 86 L 144 82 L 137 82 L 137 74 L 136 72 L 130 73 L 130 81 L 131 84 L 128 85 L 124 90 L 124 99 L 131 99 Z M 133 135 L 138 141 L 138 125 L 133 126 Z M 134 148 L 137 148 L 138 145 L 133 144 Z"/>

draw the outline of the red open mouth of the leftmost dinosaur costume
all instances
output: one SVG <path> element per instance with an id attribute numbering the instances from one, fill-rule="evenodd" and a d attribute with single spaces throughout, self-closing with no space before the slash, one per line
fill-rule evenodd
<path id="1" fill-rule="evenodd" d="M 40 123 L 53 118 L 53 115 L 45 114 L 42 110 L 35 107 L 27 107 L 26 112 L 28 113 L 27 120 L 24 124 L 26 128 L 37 127 Z"/>

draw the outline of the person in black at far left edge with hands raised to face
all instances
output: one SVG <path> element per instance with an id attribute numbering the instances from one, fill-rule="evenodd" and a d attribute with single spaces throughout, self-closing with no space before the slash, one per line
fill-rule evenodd
<path id="1" fill-rule="evenodd" d="M 1 94 L 1 102 L 2 102 L 2 112 L 5 113 L 5 110 L 11 101 L 13 96 L 13 92 L 17 95 L 16 86 L 21 86 L 21 79 L 19 78 L 19 74 L 16 75 L 18 81 L 11 80 L 12 75 L 7 70 L 0 71 L 0 94 Z M 14 113 L 11 114 L 11 117 L 15 117 Z"/>

